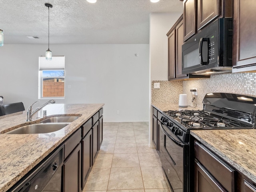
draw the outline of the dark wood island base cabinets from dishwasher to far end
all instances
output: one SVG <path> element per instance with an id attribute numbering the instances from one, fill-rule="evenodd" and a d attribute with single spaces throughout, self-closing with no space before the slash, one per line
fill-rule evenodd
<path id="1" fill-rule="evenodd" d="M 102 141 L 103 108 L 64 142 L 63 192 L 82 192 Z"/>

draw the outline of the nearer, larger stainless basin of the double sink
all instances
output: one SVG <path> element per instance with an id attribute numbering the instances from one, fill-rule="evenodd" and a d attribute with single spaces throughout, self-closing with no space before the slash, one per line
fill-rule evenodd
<path id="1" fill-rule="evenodd" d="M 19 128 L 16 128 L 12 131 L 7 132 L 6 134 L 40 134 L 40 133 L 50 133 L 58 131 L 69 123 L 38 123 L 25 125 Z"/>

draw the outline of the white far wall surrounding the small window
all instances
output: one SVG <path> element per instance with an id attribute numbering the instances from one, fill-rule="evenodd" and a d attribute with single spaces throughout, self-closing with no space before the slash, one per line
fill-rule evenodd
<path id="1" fill-rule="evenodd" d="M 1 47 L 0 95 L 5 104 L 22 101 L 28 108 L 38 100 L 38 56 L 46 49 L 28 44 Z M 105 122 L 149 120 L 148 44 L 50 45 L 50 50 L 53 56 L 65 56 L 65 99 L 57 103 L 105 103 Z"/>

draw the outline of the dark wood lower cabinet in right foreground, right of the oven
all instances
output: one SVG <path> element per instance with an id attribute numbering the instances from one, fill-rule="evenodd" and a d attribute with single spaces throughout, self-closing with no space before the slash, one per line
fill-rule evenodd
<path id="1" fill-rule="evenodd" d="M 190 191 L 256 192 L 256 184 L 190 137 Z"/>

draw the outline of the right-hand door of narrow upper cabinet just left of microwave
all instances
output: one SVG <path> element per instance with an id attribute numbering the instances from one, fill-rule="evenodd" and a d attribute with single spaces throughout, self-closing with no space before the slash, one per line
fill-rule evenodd
<path id="1" fill-rule="evenodd" d="M 183 22 L 176 27 L 176 78 L 186 77 L 182 74 Z"/>

